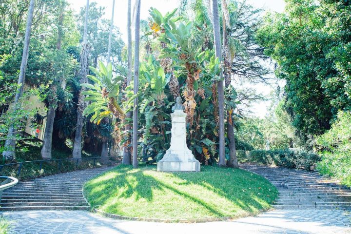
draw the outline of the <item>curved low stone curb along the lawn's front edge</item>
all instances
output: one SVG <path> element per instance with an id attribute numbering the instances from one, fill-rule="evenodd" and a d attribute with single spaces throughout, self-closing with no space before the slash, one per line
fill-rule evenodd
<path id="1" fill-rule="evenodd" d="M 230 217 L 222 218 L 190 218 L 190 219 L 167 219 L 167 218 L 143 218 L 143 217 L 128 217 L 122 215 L 115 215 L 100 211 L 96 208 L 93 209 L 95 213 L 108 218 L 121 219 L 121 220 L 132 220 L 132 221 L 146 221 L 146 222 L 156 222 L 156 223 L 205 223 L 205 222 L 216 222 L 216 221 L 231 221 L 238 218 L 245 218 L 249 216 L 259 215 L 262 212 L 267 212 L 274 210 L 273 208 L 262 209 L 257 212 L 244 213 L 241 215 L 234 215 Z"/>

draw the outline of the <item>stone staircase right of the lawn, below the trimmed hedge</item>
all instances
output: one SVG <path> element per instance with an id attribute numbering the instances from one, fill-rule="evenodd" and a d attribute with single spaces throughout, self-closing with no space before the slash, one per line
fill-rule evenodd
<path id="1" fill-rule="evenodd" d="M 276 209 L 339 209 L 351 211 L 351 190 L 318 172 L 242 164 L 278 189 Z"/>

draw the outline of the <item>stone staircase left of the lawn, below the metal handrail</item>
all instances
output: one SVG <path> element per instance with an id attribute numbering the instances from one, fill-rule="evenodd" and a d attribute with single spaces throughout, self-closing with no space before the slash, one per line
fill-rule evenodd
<path id="1" fill-rule="evenodd" d="M 20 181 L 4 190 L 0 211 L 89 210 L 83 184 L 112 167 L 86 169 Z"/>

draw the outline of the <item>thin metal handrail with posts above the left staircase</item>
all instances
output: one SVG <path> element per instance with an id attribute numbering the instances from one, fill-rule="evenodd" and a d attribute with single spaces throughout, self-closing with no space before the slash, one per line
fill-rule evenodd
<path id="1" fill-rule="evenodd" d="M 24 161 L 24 162 L 14 162 L 14 163 L 8 163 L 8 164 L 2 164 L 0 165 L 0 173 L 2 171 L 2 169 L 6 166 L 13 166 L 13 165 L 19 165 L 19 168 L 17 170 L 17 176 L 20 176 L 20 172 L 22 169 L 22 165 L 25 163 L 32 163 L 32 162 L 39 162 L 40 166 L 39 166 L 39 172 L 41 173 L 41 168 L 42 168 L 42 164 L 43 162 L 51 162 L 51 161 L 59 161 L 59 171 L 61 170 L 61 166 L 62 166 L 62 161 L 66 161 L 66 160 L 77 160 L 76 162 L 76 169 L 78 168 L 78 162 L 79 160 L 83 161 L 83 160 L 91 160 L 94 159 L 94 165 L 96 163 L 96 159 L 103 159 L 103 158 L 109 158 L 110 160 L 110 166 L 112 165 L 112 158 L 117 158 L 120 156 L 106 156 L 106 157 L 82 157 L 82 158 L 58 158 L 58 159 L 42 159 L 42 160 L 32 160 L 32 161 Z M 1 178 L 1 177 L 0 177 Z"/>

